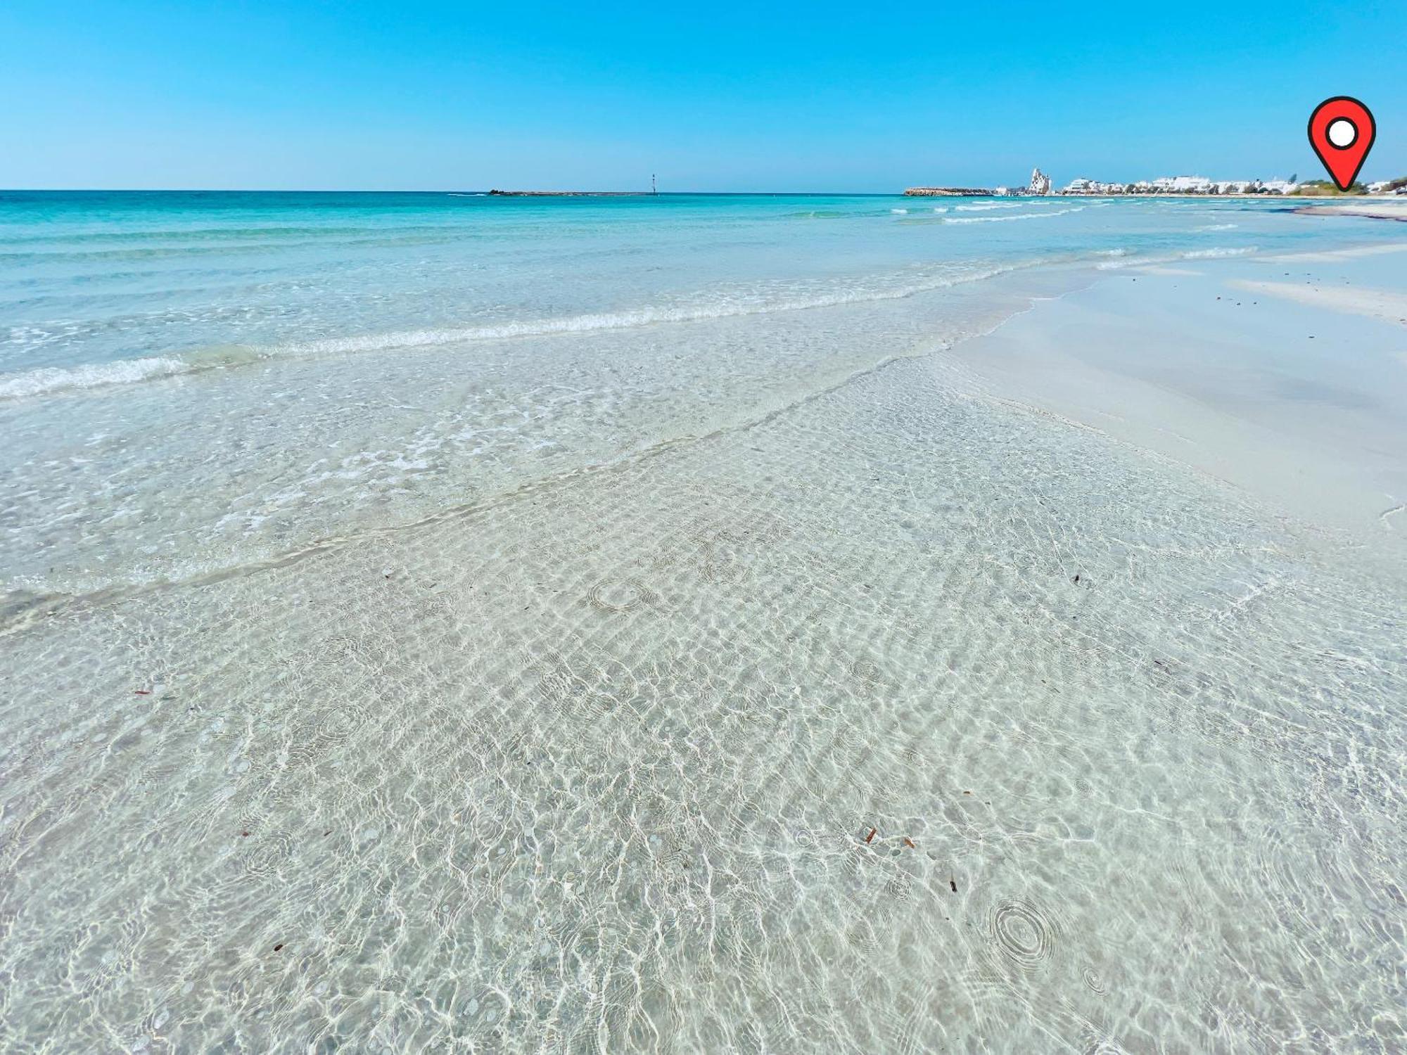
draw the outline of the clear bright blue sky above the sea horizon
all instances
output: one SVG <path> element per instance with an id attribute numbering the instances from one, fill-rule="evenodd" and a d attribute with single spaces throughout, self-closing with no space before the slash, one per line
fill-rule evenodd
<path id="1" fill-rule="evenodd" d="M 1407 3 L 0 4 L 0 187 L 889 191 L 1407 174 Z"/>

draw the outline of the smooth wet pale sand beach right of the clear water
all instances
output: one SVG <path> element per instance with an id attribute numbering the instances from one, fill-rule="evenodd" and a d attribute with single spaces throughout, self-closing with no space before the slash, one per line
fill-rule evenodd
<path id="1" fill-rule="evenodd" d="M 1407 243 L 1134 266 L 947 356 L 999 397 L 1386 543 L 1400 564 L 1404 288 Z"/>

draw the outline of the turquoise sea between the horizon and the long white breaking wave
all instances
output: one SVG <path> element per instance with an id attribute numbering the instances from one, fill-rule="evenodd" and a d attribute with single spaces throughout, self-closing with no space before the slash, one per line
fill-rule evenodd
<path id="1" fill-rule="evenodd" d="M 243 356 L 622 328 L 902 297 L 1034 260 L 1307 238 L 1262 203 L 1107 208 L 1068 198 L 0 191 L 0 394 L 134 376 L 114 362 L 172 360 L 166 369 L 179 371 Z M 70 373 L 35 373 L 44 369 Z"/>

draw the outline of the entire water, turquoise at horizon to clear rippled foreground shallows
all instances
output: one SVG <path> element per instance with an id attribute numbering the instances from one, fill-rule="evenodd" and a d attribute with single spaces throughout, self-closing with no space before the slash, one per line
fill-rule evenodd
<path id="1" fill-rule="evenodd" d="M 381 197 L 0 207 L 0 1047 L 1400 1047 L 1401 596 L 931 354 L 1342 234 Z"/>

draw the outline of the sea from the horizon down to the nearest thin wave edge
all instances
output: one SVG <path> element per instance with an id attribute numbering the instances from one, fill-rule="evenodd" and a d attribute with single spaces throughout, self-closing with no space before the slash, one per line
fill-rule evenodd
<path id="1" fill-rule="evenodd" d="M 705 435 L 1052 266 L 1324 239 L 1276 208 L 4 193 L 0 587 L 239 567 Z"/>

